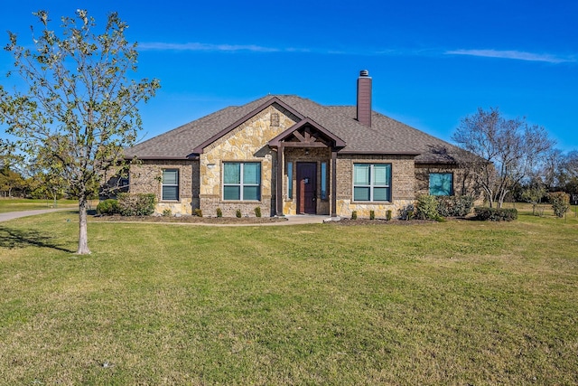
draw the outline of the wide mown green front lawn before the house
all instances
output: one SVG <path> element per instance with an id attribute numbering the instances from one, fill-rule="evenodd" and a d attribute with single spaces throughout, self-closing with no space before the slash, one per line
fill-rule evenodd
<path id="1" fill-rule="evenodd" d="M 573 213 L 92 222 L 88 257 L 75 221 L 0 223 L 4 384 L 578 383 Z"/>

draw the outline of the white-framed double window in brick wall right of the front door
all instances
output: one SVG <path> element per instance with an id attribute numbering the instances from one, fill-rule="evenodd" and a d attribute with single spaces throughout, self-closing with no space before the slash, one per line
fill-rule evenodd
<path id="1" fill-rule="evenodd" d="M 391 201 L 391 164 L 353 164 L 353 201 Z"/>

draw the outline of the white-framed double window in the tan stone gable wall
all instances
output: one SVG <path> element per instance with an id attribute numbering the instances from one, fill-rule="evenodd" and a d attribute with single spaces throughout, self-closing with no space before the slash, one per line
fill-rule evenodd
<path id="1" fill-rule="evenodd" d="M 224 163 L 223 199 L 236 201 L 261 200 L 261 164 L 258 162 Z"/>

